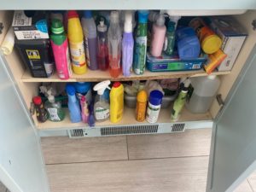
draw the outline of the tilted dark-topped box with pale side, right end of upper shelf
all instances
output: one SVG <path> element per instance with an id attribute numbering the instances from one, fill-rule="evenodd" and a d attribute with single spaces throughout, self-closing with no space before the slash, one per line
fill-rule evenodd
<path id="1" fill-rule="evenodd" d="M 221 49 L 227 55 L 218 66 L 218 71 L 230 71 L 247 38 L 247 32 L 232 16 L 216 16 L 209 19 L 212 30 L 222 39 Z"/>

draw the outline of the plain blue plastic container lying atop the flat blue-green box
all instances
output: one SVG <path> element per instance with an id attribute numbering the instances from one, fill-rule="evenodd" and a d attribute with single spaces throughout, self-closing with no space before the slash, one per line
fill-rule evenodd
<path id="1" fill-rule="evenodd" d="M 196 59 L 201 52 L 201 44 L 191 27 L 179 28 L 176 32 L 177 52 L 182 60 Z"/>

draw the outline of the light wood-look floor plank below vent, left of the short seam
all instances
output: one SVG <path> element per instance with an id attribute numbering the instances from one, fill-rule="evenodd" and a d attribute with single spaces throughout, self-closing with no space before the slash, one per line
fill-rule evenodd
<path id="1" fill-rule="evenodd" d="M 46 164 L 127 160 L 126 137 L 42 137 Z"/>

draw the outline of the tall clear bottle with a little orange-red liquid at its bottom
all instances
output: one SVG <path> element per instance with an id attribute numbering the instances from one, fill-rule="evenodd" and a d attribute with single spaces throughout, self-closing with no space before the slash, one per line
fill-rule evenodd
<path id="1" fill-rule="evenodd" d="M 113 78 L 119 77 L 120 74 L 121 41 L 122 37 L 119 26 L 119 12 L 112 11 L 110 15 L 110 26 L 108 29 L 108 58 L 109 73 Z"/>

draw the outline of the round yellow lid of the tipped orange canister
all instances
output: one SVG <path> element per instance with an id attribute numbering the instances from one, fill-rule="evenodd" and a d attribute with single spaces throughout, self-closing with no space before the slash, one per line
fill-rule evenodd
<path id="1" fill-rule="evenodd" d="M 201 42 L 201 49 L 207 54 L 216 52 L 222 44 L 222 40 L 217 35 L 210 35 Z"/>

